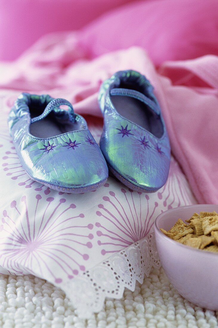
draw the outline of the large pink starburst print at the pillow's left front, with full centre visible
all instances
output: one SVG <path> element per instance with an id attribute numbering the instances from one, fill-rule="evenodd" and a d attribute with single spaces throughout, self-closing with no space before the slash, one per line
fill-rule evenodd
<path id="1" fill-rule="evenodd" d="M 46 202 L 46 203 L 44 203 Z M 85 271 L 89 259 L 93 224 L 66 199 L 26 196 L 13 200 L 3 211 L 0 233 L 0 264 L 10 272 L 53 277 L 54 282 L 72 279 Z"/>

